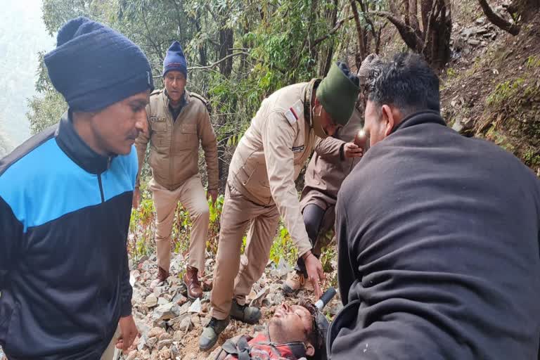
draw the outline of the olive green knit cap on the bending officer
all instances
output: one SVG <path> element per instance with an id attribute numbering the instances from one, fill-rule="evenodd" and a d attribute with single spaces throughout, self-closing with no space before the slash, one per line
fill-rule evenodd
<path id="1" fill-rule="evenodd" d="M 328 75 L 317 88 L 316 96 L 326 113 L 337 124 L 349 121 L 358 98 L 359 79 L 353 75 L 345 63 L 333 63 Z"/>

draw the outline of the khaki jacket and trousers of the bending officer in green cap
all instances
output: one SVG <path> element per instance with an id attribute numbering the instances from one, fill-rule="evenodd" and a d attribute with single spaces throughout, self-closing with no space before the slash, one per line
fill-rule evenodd
<path id="1" fill-rule="evenodd" d="M 320 80 L 287 86 L 264 99 L 231 160 L 221 214 L 212 316 L 229 316 L 231 299 L 245 303 L 262 275 L 279 217 L 298 249 L 311 250 L 295 179 L 316 140 L 311 94 Z M 242 238 L 248 230 L 244 255 Z"/>

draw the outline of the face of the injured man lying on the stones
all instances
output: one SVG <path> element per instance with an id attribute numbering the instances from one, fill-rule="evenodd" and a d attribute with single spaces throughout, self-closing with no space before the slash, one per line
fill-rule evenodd
<path id="1" fill-rule="evenodd" d="M 306 355 L 313 356 L 319 333 L 316 330 L 314 314 L 309 306 L 281 304 L 268 323 L 268 335 L 271 342 L 303 342 Z"/>

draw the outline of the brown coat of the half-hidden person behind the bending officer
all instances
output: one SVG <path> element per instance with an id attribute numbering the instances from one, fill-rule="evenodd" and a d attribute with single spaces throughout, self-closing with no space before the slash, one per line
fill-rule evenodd
<path id="1" fill-rule="evenodd" d="M 361 159 L 345 158 L 343 153 L 345 143 L 354 141 L 354 136 L 362 128 L 361 122 L 362 115 L 354 108 L 349 122 L 339 129 L 338 134 L 317 141 L 304 176 L 300 200 L 302 209 L 309 203 L 323 210 L 335 205 L 343 180 Z"/>

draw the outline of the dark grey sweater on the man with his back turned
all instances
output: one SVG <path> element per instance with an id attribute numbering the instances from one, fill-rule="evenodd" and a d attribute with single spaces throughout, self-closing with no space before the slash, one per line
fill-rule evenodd
<path id="1" fill-rule="evenodd" d="M 338 195 L 331 359 L 536 359 L 539 212 L 513 155 L 436 113 L 406 119 Z"/>

